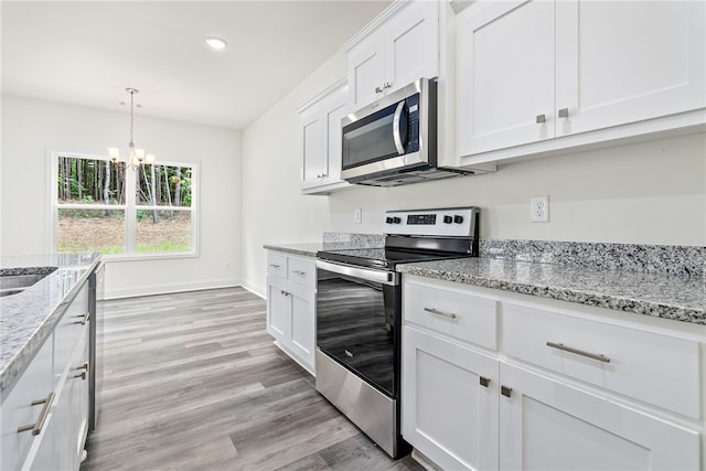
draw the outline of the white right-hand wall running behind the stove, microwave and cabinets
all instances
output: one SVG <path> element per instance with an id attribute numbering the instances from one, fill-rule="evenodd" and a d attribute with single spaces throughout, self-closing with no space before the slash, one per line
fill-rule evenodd
<path id="1" fill-rule="evenodd" d="M 493 174 L 303 196 L 296 109 L 345 67 L 334 56 L 244 131 L 243 279 L 257 292 L 266 283 L 263 244 L 381 233 L 383 212 L 396 208 L 480 206 L 482 238 L 706 246 L 705 133 L 566 152 Z M 545 194 L 550 222 L 531 223 L 530 197 Z"/>

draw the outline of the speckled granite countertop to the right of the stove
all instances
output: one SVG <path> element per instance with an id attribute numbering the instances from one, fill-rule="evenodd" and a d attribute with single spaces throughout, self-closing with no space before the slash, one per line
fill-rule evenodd
<path id="1" fill-rule="evenodd" d="M 706 325 L 706 279 L 501 258 L 398 265 L 397 271 Z"/>

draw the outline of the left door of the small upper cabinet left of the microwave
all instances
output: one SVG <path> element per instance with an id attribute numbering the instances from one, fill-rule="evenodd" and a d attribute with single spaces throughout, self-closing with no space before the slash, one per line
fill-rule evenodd
<path id="1" fill-rule="evenodd" d="M 319 108 L 301 116 L 301 186 L 321 184 L 327 173 L 325 122 Z"/>

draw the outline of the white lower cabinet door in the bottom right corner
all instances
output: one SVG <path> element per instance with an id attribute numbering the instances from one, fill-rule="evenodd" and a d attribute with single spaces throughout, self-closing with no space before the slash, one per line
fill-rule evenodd
<path id="1" fill-rule="evenodd" d="M 501 364 L 501 470 L 698 469 L 699 436 L 525 370 Z"/>

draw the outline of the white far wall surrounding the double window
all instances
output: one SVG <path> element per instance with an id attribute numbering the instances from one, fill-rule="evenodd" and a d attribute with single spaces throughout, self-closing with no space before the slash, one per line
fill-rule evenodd
<path id="1" fill-rule="evenodd" d="M 47 151 L 105 154 L 127 149 L 129 115 L 2 97 L 0 250 L 50 250 Z M 200 163 L 201 243 L 197 257 L 108 261 L 108 297 L 168 292 L 240 282 L 242 136 L 239 132 L 140 117 L 138 144 L 158 159 Z"/>

